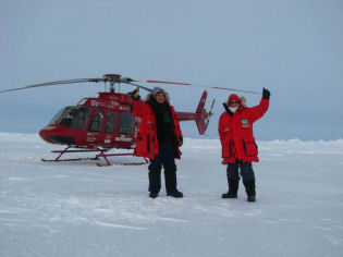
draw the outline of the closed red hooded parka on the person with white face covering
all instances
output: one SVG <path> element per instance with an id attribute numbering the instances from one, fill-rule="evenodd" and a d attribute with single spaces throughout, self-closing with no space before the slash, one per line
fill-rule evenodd
<path id="1" fill-rule="evenodd" d="M 253 108 L 244 107 L 235 94 L 229 97 L 228 102 L 233 99 L 240 102 L 238 109 L 234 113 L 230 113 L 228 109 L 219 119 L 218 133 L 222 146 L 222 163 L 234 163 L 236 159 L 243 162 L 258 162 L 253 123 L 266 113 L 269 99 L 262 98 L 259 105 Z"/>

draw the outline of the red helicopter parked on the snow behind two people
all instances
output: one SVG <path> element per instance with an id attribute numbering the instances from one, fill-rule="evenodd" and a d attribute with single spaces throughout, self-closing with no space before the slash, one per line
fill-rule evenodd
<path id="1" fill-rule="evenodd" d="M 103 158 L 106 164 L 97 162 L 96 164 L 111 166 L 108 157 L 115 156 L 134 156 L 133 149 L 136 145 L 137 132 L 140 124 L 140 119 L 134 117 L 132 112 L 132 97 L 130 93 L 123 94 L 115 91 L 120 88 L 121 84 L 143 88 L 147 91 L 152 89 L 138 85 L 139 83 L 154 83 L 154 84 L 172 84 L 183 86 L 198 86 L 209 87 L 201 85 L 194 85 L 188 83 L 176 83 L 166 81 L 142 81 L 132 79 L 130 77 L 122 77 L 119 74 L 105 74 L 100 78 L 77 78 L 54 81 L 40 84 L 27 85 L 24 87 L 0 90 L 0 93 L 8 93 L 13 90 L 28 89 L 40 86 L 51 86 L 59 84 L 73 84 L 73 83 L 109 83 L 109 91 L 98 93 L 98 97 L 86 97 L 81 99 L 76 106 L 68 106 L 57 112 L 50 122 L 39 131 L 40 137 L 50 144 L 64 145 L 62 150 L 52 150 L 51 152 L 58 154 L 53 159 L 41 159 L 42 161 L 76 161 L 76 160 L 99 160 Z M 211 87 L 216 89 L 237 90 L 226 87 Z M 238 90 L 244 91 L 244 90 Z M 247 91 L 253 93 L 253 91 Z M 209 124 L 212 114 L 215 99 L 211 103 L 210 110 L 207 112 L 205 103 L 207 99 L 207 91 L 204 90 L 195 112 L 176 112 L 179 121 L 194 120 L 198 133 L 204 135 Z M 142 100 L 140 100 L 142 101 Z M 126 149 L 130 152 L 110 154 L 112 149 Z M 90 158 L 64 158 L 65 154 L 79 154 L 79 152 L 96 152 Z M 147 164 L 148 159 L 144 158 L 142 162 L 130 162 L 121 164 Z"/>

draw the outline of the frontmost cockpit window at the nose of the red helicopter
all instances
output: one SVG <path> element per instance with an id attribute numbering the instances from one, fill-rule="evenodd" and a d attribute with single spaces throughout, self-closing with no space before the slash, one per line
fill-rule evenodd
<path id="1" fill-rule="evenodd" d="M 72 128 L 83 128 L 87 123 L 88 114 L 89 110 L 86 107 L 70 107 L 58 123 Z"/>

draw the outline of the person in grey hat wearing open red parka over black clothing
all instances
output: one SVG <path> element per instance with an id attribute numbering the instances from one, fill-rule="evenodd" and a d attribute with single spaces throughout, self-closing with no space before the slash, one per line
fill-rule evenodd
<path id="1" fill-rule="evenodd" d="M 133 114 L 142 119 L 134 155 L 150 159 L 149 197 L 158 197 L 163 166 L 167 195 L 182 198 L 182 192 L 176 188 L 175 158 L 181 157 L 179 148 L 183 136 L 169 96 L 162 88 L 155 87 L 146 101 L 139 100 L 138 88 L 132 93 L 132 98 Z"/>

